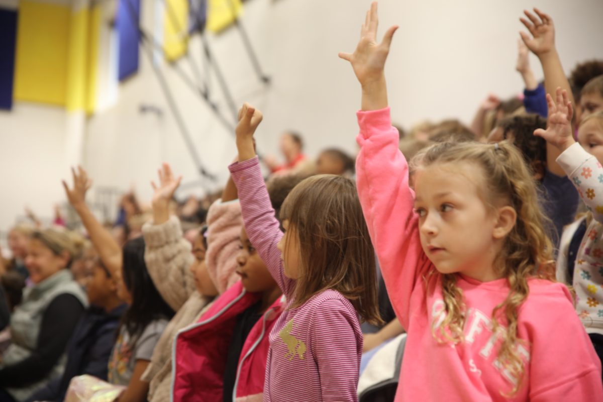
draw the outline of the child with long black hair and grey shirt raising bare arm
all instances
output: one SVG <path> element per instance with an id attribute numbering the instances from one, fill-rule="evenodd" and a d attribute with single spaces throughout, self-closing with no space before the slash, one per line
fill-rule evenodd
<path id="1" fill-rule="evenodd" d="M 103 265 L 118 281 L 119 298 L 129 305 L 119 325 L 118 338 L 109 360 L 109 383 L 125 387 L 119 402 L 145 401 L 149 383 L 142 374 L 174 311 L 151 280 L 145 264 L 144 239 L 128 240 L 123 248 L 119 247 L 112 234 L 86 205 L 86 192 L 92 186 L 86 171 L 72 169 L 72 175 L 72 188 L 63 181 L 69 203 L 80 216 Z M 81 377 L 75 378 L 81 380 Z M 77 385 L 72 382 L 70 387 L 73 390 Z"/>

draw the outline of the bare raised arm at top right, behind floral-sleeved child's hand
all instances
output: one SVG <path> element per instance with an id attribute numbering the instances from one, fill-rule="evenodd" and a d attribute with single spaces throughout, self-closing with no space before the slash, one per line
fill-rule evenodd
<path id="1" fill-rule="evenodd" d="M 555 48 L 555 26 L 551 16 L 534 8 L 534 14 L 529 11 L 523 11 L 526 18 L 520 18 L 523 25 L 528 28 L 530 37 L 525 32 L 520 32 L 523 43 L 532 51 L 542 64 L 542 71 L 545 74 L 545 89 L 548 95 L 555 97 L 555 90 L 561 87 L 567 92 L 569 101 L 573 104 L 572 89 L 569 86 L 569 81 L 561 66 L 561 59 Z M 548 145 L 546 148 L 546 165 L 549 172 L 558 176 L 564 176 L 565 172 L 555 162 L 560 152 L 558 148 Z"/>

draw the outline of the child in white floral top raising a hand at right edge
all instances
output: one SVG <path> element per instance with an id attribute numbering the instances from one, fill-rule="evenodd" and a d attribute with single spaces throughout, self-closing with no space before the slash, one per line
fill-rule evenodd
<path id="1" fill-rule="evenodd" d="M 549 127 L 536 130 L 534 134 L 562 152 L 557 162 L 572 178 L 591 215 L 575 261 L 572 261 L 570 283 L 576 292 L 576 311 L 599 359 L 603 360 L 603 113 L 590 115 L 582 121 L 578 128 L 578 144 L 572 135 L 573 109 L 567 92 L 558 88 L 556 102 L 550 95 L 547 100 Z"/>

